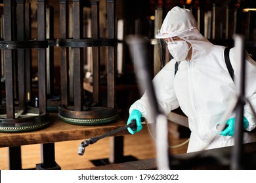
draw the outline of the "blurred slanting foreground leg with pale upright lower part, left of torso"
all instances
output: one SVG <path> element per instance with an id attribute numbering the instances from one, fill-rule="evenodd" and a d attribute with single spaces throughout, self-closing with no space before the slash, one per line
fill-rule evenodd
<path id="1" fill-rule="evenodd" d="M 166 116 L 160 113 L 154 86 L 150 79 L 150 70 L 146 65 L 147 52 L 146 41 L 142 37 L 130 35 L 127 37 L 127 43 L 133 59 L 133 63 L 137 66 L 137 80 L 140 86 L 140 93 L 148 95 L 148 103 L 154 127 L 156 129 L 156 154 L 158 169 L 169 169 L 169 148 L 168 148 L 168 126 Z"/>

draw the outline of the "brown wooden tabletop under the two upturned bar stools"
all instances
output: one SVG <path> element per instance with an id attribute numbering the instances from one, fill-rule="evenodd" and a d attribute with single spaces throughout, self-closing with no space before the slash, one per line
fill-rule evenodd
<path id="1" fill-rule="evenodd" d="M 50 114 L 50 124 L 37 131 L 22 133 L 0 133 L 0 147 L 22 146 L 28 144 L 44 144 L 50 142 L 87 140 L 104 135 L 114 129 L 126 125 L 125 120 L 117 119 L 106 125 L 83 126 L 62 122 L 57 114 Z M 114 135 L 127 135 L 127 130 L 119 131 Z"/>

